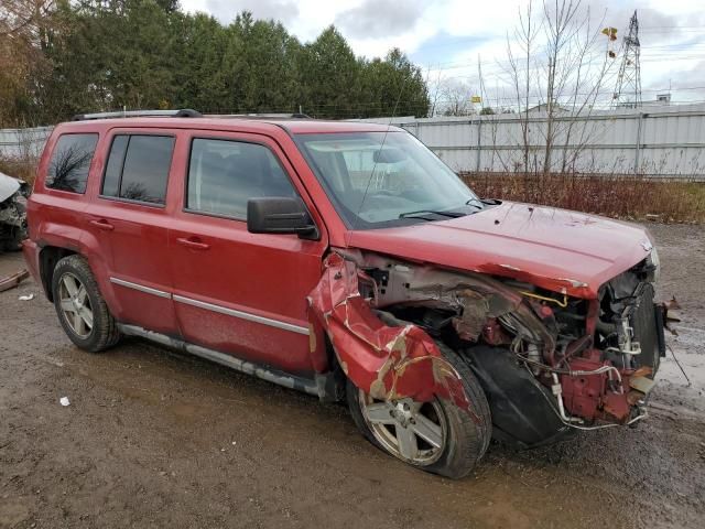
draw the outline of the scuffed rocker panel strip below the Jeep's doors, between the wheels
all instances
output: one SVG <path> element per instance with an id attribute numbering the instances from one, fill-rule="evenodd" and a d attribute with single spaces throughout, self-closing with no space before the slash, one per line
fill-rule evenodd
<path id="1" fill-rule="evenodd" d="M 241 360 L 240 358 L 226 355 L 225 353 L 207 349 L 205 347 L 189 344 L 178 338 L 172 338 L 171 336 L 166 336 L 165 334 L 155 333 L 154 331 L 148 331 L 147 328 L 137 325 L 118 323 L 118 328 L 122 334 L 127 336 L 139 336 L 141 338 L 147 338 L 151 342 L 155 342 L 158 344 L 173 347 L 184 353 L 188 353 L 194 356 L 199 356 L 200 358 L 215 361 L 216 364 L 229 367 L 230 369 L 235 369 L 247 375 L 252 375 L 257 378 L 261 378 L 262 380 L 267 380 L 285 388 L 296 389 L 299 391 L 316 396 L 322 401 L 330 400 L 329 390 L 332 374 L 316 374 L 315 379 L 312 380 L 310 378 L 297 377 L 275 369 L 258 366 L 257 364 L 252 364 L 251 361 Z"/>

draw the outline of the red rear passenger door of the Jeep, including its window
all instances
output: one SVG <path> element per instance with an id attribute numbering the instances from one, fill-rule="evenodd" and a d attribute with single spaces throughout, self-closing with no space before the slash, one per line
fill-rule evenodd
<path id="1" fill-rule="evenodd" d="M 171 299 L 166 194 L 172 130 L 113 129 L 87 233 L 107 263 L 111 310 L 123 323 L 178 335 Z"/>

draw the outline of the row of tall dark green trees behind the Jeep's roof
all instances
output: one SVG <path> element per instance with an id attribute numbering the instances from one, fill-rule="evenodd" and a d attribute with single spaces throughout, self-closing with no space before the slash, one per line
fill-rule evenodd
<path id="1" fill-rule="evenodd" d="M 334 26 L 302 44 L 281 23 L 247 11 L 223 25 L 184 13 L 177 0 L 59 0 L 33 34 L 22 41 L 21 60 L 6 60 L 0 72 L 0 126 L 121 108 L 302 108 L 321 118 L 429 109 L 421 72 L 405 55 L 356 57 Z M 17 42 L 0 31 L 0 51 L 17 50 Z"/>

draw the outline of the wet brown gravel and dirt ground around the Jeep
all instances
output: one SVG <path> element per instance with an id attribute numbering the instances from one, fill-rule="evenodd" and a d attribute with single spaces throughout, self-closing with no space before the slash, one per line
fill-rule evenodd
<path id="1" fill-rule="evenodd" d="M 492 444 L 459 482 L 375 450 L 343 406 L 140 341 L 83 353 L 25 281 L 0 293 L 0 527 L 703 527 L 705 230 L 650 229 L 692 385 L 669 355 L 638 428 Z"/>

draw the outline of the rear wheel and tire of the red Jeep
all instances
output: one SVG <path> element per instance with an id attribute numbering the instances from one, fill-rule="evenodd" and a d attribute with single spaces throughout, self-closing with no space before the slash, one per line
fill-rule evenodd
<path id="1" fill-rule="evenodd" d="M 86 260 L 63 258 L 52 276 L 54 307 L 64 332 L 84 350 L 99 353 L 120 339 L 120 332 Z"/>

